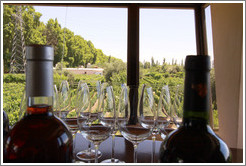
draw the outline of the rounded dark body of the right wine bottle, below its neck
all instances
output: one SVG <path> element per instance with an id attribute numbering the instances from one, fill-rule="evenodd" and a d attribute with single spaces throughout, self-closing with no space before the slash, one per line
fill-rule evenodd
<path id="1" fill-rule="evenodd" d="M 180 127 L 168 135 L 160 147 L 161 162 L 230 162 L 227 145 L 213 130 Z"/>

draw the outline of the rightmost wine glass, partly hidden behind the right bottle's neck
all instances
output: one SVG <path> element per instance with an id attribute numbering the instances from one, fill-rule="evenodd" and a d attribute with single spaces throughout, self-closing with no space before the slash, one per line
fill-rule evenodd
<path id="1" fill-rule="evenodd" d="M 173 101 L 173 121 L 177 127 L 182 124 L 184 103 L 184 88 L 181 85 L 176 86 L 175 97 Z"/>

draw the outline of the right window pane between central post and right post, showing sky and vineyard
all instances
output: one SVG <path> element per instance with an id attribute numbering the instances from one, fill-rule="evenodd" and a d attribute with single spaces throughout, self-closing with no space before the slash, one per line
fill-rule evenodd
<path id="1" fill-rule="evenodd" d="M 196 55 L 194 10 L 140 9 L 140 84 L 150 84 L 157 101 L 164 85 L 172 102 L 184 88 L 187 55 Z"/>

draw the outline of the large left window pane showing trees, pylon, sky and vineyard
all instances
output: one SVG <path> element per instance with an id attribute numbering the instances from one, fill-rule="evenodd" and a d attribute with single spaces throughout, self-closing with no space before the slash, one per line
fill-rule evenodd
<path id="1" fill-rule="evenodd" d="M 127 8 L 18 6 L 19 14 L 15 5 L 3 7 L 3 102 L 11 125 L 18 120 L 21 102 L 11 99 L 21 99 L 25 87 L 24 73 L 7 74 L 14 44 L 17 49 L 22 48 L 19 47 L 22 44 L 53 45 L 54 65 L 58 64 L 54 84 L 58 90 L 62 80 L 68 80 L 72 93 L 76 92 L 80 80 L 86 82 L 91 91 L 96 90 L 96 81 L 109 82 L 115 92 L 120 90 L 120 84 L 126 82 Z M 17 14 L 22 24 L 13 19 Z M 19 36 L 14 38 L 17 30 Z M 24 36 L 24 43 L 19 42 L 20 34 Z M 20 52 L 17 49 L 16 52 Z M 62 59 L 64 64 L 60 70 Z M 72 96 L 75 99 L 76 95 Z"/>

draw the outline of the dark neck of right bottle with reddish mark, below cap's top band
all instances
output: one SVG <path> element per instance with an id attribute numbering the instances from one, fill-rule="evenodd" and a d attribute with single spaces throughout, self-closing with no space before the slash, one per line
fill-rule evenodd
<path id="1" fill-rule="evenodd" d="M 186 71 L 183 125 L 206 125 L 209 120 L 209 71 Z"/>

